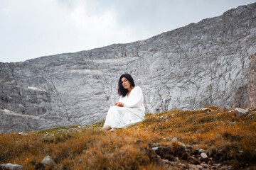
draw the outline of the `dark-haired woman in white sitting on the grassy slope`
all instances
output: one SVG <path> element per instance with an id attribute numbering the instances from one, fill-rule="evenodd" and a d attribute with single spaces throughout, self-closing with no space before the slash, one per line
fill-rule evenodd
<path id="1" fill-rule="evenodd" d="M 130 74 L 122 74 L 118 82 L 119 101 L 114 103 L 107 112 L 104 128 L 101 130 L 115 131 L 132 123 L 144 120 L 145 108 L 142 89 L 135 86 Z"/>

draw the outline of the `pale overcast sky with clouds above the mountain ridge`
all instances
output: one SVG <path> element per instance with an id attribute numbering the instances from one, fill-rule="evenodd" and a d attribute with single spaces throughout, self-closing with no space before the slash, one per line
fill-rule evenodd
<path id="1" fill-rule="evenodd" d="M 0 62 L 144 40 L 255 0 L 0 0 Z"/>

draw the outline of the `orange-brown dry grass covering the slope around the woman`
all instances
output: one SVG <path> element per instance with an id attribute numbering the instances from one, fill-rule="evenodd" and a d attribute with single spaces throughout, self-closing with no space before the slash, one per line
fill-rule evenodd
<path id="1" fill-rule="evenodd" d="M 216 161 L 228 161 L 234 167 L 255 165 L 255 115 L 238 118 L 234 112 L 210 107 L 215 111 L 148 114 L 142 123 L 117 132 L 101 132 L 100 122 L 75 132 L 53 128 L 28 136 L 0 134 L 0 164 L 43 169 L 40 162 L 50 155 L 57 165 L 46 169 L 164 169 L 151 147 L 169 146 L 171 141 L 164 138 L 177 137 L 186 145 L 208 150 Z M 240 150 L 244 154 L 238 157 L 235 151 Z"/>

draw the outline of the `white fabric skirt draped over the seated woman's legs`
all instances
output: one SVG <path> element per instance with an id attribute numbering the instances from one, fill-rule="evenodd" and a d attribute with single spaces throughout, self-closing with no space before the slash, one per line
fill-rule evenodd
<path id="1" fill-rule="evenodd" d="M 111 128 L 124 128 L 127 125 L 141 122 L 144 116 L 144 112 L 139 111 L 138 108 L 111 106 L 107 112 L 104 127 L 108 125 Z"/>

